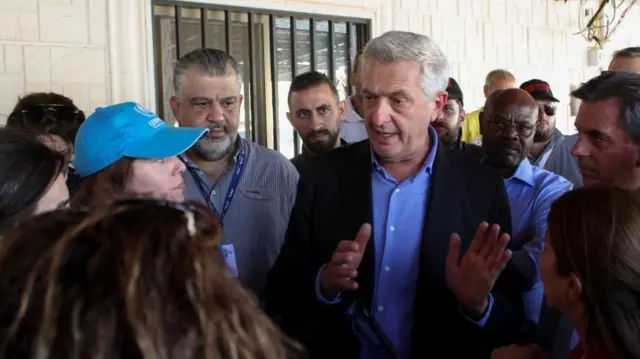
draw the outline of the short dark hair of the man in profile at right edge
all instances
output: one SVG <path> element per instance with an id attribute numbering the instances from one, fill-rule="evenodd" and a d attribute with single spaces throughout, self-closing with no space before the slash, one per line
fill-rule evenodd
<path id="1" fill-rule="evenodd" d="M 640 143 L 640 74 L 630 71 L 605 71 L 582 84 L 571 96 L 584 102 L 620 100 L 620 127 Z"/>

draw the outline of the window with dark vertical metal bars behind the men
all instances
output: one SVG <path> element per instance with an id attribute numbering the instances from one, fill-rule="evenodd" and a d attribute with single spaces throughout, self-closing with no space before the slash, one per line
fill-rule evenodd
<path id="1" fill-rule="evenodd" d="M 353 89 L 349 74 L 357 51 L 370 38 L 367 19 L 285 13 L 153 0 L 157 111 L 175 125 L 169 105 L 173 64 L 200 47 L 225 50 L 243 72 L 238 132 L 291 158 L 301 150 L 287 120 L 291 80 L 309 70 L 331 78 L 341 99 Z"/>

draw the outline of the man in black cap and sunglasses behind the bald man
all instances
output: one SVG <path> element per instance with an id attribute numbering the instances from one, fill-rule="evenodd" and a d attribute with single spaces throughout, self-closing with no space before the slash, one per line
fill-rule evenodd
<path id="1" fill-rule="evenodd" d="M 564 135 L 556 128 L 556 103 L 549 83 L 533 79 L 524 82 L 520 88 L 527 91 L 538 103 L 538 124 L 533 136 L 533 146 L 529 160 L 534 166 L 544 168 L 553 148 L 564 140 Z"/>

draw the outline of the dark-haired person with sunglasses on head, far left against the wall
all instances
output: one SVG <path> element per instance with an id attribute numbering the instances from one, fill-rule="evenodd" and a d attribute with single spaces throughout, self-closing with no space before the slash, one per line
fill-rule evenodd
<path id="1" fill-rule="evenodd" d="M 35 135 L 71 161 L 76 133 L 84 119 L 84 113 L 70 98 L 53 92 L 36 92 L 18 100 L 7 119 L 7 127 Z M 68 168 L 66 182 L 70 192 L 80 185 L 73 167 Z"/>

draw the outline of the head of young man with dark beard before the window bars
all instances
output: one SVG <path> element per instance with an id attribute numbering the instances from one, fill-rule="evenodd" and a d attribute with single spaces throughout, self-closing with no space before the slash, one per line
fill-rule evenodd
<path id="1" fill-rule="evenodd" d="M 291 162 L 302 173 L 311 158 L 346 144 L 340 138 L 345 104 L 333 82 L 318 71 L 296 76 L 289 87 L 288 101 L 287 118 L 304 144 L 302 153 Z"/>

